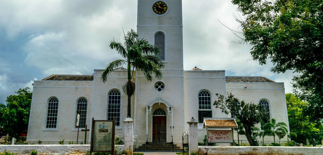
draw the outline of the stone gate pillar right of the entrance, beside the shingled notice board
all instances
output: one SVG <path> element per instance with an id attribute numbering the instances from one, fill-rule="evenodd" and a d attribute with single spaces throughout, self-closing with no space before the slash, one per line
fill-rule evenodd
<path id="1" fill-rule="evenodd" d="M 198 148 L 198 141 L 197 141 L 197 123 L 199 123 L 197 120 L 195 120 L 193 117 L 190 121 L 186 122 L 189 124 L 188 128 L 188 147 L 189 147 L 189 154 L 192 152 L 197 152 L 199 150 Z"/>

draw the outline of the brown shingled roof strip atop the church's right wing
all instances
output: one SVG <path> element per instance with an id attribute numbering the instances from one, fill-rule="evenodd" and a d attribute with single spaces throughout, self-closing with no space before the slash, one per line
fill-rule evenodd
<path id="1" fill-rule="evenodd" d="M 266 77 L 225 77 L 225 82 L 275 82 Z"/>

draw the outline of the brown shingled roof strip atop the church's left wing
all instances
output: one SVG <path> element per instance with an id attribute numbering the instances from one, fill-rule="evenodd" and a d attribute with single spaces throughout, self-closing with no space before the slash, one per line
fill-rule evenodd
<path id="1" fill-rule="evenodd" d="M 47 81 L 93 81 L 93 75 L 51 75 L 43 80 Z"/>

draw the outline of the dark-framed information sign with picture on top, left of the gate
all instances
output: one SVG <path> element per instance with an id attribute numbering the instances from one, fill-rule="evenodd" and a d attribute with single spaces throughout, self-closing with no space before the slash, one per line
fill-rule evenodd
<path id="1" fill-rule="evenodd" d="M 114 154 L 114 120 L 94 120 L 92 118 L 92 134 L 90 155 L 92 152 L 111 152 Z"/>

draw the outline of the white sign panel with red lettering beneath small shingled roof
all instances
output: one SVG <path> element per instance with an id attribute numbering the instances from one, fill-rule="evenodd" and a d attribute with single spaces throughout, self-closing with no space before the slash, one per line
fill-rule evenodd
<path id="1" fill-rule="evenodd" d="M 232 130 L 208 130 L 207 141 L 209 143 L 233 143 Z"/>

